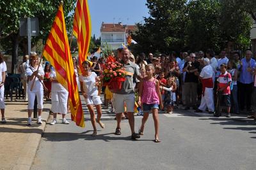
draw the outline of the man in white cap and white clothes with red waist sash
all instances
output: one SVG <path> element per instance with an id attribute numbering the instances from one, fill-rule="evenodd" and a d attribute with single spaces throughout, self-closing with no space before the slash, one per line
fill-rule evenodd
<path id="1" fill-rule="evenodd" d="M 203 86 L 202 100 L 201 104 L 196 109 L 195 112 L 203 112 L 206 108 L 210 114 L 214 114 L 214 99 L 213 99 L 213 86 L 214 83 L 212 81 L 212 76 L 214 76 L 214 72 L 212 70 L 212 66 L 210 65 L 211 61 L 209 58 L 204 58 L 204 68 L 200 73 L 200 80 Z"/>

